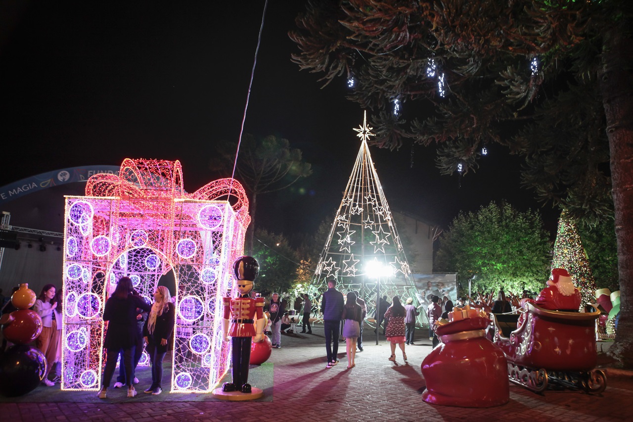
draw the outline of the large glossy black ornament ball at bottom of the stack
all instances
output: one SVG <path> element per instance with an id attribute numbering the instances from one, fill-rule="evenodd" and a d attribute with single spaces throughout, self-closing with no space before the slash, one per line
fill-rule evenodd
<path id="1" fill-rule="evenodd" d="M 6 397 L 32 392 L 45 375 L 46 357 L 35 347 L 11 346 L 0 357 L 0 393 Z"/>

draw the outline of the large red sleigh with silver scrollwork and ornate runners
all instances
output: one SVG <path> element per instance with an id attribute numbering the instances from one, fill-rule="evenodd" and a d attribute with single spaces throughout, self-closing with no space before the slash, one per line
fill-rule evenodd
<path id="1" fill-rule="evenodd" d="M 605 390 L 605 373 L 595 369 L 599 310 L 563 312 L 527 303 L 522 311 L 521 319 L 520 314 L 493 314 L 494 343 L 506 355 L 511 382 L 534 392 L 548 386 Z"/>

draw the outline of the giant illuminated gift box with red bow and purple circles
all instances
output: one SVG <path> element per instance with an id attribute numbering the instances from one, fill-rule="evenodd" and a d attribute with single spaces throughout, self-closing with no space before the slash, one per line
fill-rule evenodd
<path id="1" fill-rule="evenodd" d="M 229 366 L 216 304 L 232 290 L 231 265 L 250 222 L 241 184 L 220 179 L 189 194 L 180 162 L 126 159 L 118 176 L 92 176 L 85 194 L 66 196 L 62 389 L 99 388 L 103 306 L 118 279 L 131 278 L 151 303 L 160 277 L 173 271 L 172 392 L 210 391 Z"/>

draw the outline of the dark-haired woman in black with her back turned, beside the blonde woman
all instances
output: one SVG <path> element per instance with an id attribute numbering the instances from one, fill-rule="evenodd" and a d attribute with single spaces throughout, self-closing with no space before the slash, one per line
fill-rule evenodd
<path id="1" fill-rule="evenodd" d="M 103 321 L 109 321 L 108 331 L 104 347 L 108 350 L 106 368 L 103 371 L 103 382 L 99 399 L 106 398 L 106 390 L 110 387 L 112 376 L 115 373 L 116 359 L 119 350 L 123 349 L 123 365 L 125 365 L 125 383 L 127 384 L 127 397 L 134 397 L 136 390 L 132 385 L 134 379 L 134 364 L 132 357 L 137 340 L 136 309 L 149 312 L 150 306 L 142 297 L 132 295 L 132 280 L 122 277 L 116 283 L 116 289 L 108 298 L 103 309 Z"/>

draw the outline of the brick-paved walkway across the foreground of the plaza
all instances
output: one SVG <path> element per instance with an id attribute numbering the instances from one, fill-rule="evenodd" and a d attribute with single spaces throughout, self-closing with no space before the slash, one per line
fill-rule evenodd
<path id="1" fill-rule="evenodd" d="M 371 331 L 372 330 L 367 330 Z M 420 371 L 430 342 L 408 346 L 409 364 L 387 361 L 389 345 L 367 336 L 356 367 L 346 369 L 345 344 L 341 362 L 325 368 L 323 328 L 313 335 L 284 335 L 282 348 L 273 350 L 273 397 L 259 402 L 128 402 L 3 403 L 1 421 L 624 421 L 633 414 L 633 378 L 608 374 L 601 395 L 548 391 L 544 395 L 510 385 L 510 402 L 490 409 L 434 406 L 422 401 L 425 385 Z M 367 334 L 367 333 L 366 333 Z M 421 331 L 418 336 L 423 336 Z M 615 372 L 615 371 L 613 371 Z M 168 374 L 165 374 L 168 376 Z M 477 383 L 477 380 L 471 380 Z M 49 387 L 58 388 L 58 387 Z"/>

